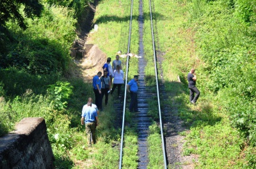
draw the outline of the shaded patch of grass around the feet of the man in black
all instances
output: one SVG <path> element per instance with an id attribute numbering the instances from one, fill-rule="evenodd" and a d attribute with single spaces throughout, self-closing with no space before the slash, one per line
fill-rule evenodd
<path id="1" fill-rule="evenodd" d="M 202 97 L 196 105 L 189 105 L 189 89 L 179 82 L 165 82 L 166 92 L 170 93 L 168 100 L 172 109 L 177 110 L 183 125 L 186 128 L 202 126 L 214 126 L 221 121 L 221 117 L 214 112 L 209 100 Z"/>

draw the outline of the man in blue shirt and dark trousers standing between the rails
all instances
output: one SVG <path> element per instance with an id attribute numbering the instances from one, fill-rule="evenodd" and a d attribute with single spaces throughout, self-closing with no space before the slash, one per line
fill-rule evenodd
<path id="1" fill-rule="evenodd" d="M 134 78 L 132 78 L 132 80 L 130 80 L 130 82 L 128 82 L 127 84 L 127 92 L 129 92 L 131 96 L 131 102 L 129 107 L 130 112 L 138 112 L 138 99 L 137 99 L 137 92 L 139 87 L 138 78 L 139 78 L 138 75 L 134 75 Z"/>

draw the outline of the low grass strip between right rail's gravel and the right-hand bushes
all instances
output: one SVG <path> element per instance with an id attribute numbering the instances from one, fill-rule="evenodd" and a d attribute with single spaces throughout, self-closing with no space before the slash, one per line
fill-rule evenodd
<path id="1" fill-rule="evenodd" d="M 241 168 L 243 163 L 246 163 L 241 156 L 243 139 L 239 132 L 230 126 L 227 112 L 219 106 L 219 97 L 205 91 L 202 82 L 207 81 L 200 80 L 202 76 L 207 77 L 203 75 L 205 63 L 196 52 L 200 51 L 197 42 L 203 37 L 202 32 L 196 31 L 195 28 L 198 26 L 196 24 L 203 23 L 189 22 L 195 4 L 188 1 L 155 1 L 155 5 L 156 13 L 166 11 L 161 13 L 163 17 L 157 18 L 159 50 L 166 52 L 163 62 L 166 89 L 170 92 L 179 91 L 178 85 L 172 85 L 177 75 L 180 75 L 184 82 L 182 91 L 170 98 L 170 101 L 180 103 L 179 113 L 190 129 L 186 135 L 184 155 L 200 155 L 198 163 L 195 164 L 196 168 Z M 189 105 L 189 91 L 186 89 L 186 75 L 192 67 L 198 70 L 197 82 L 201 91 L 196 107 Z"/>

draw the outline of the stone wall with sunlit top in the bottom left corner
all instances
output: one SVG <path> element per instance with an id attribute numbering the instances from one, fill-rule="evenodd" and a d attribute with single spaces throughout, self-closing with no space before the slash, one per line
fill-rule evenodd
<path id="1" fill-rule="evenodd" d="M 25 118 L 0 138 L 0 168 L 54 168 L 43 118 Z"/>

